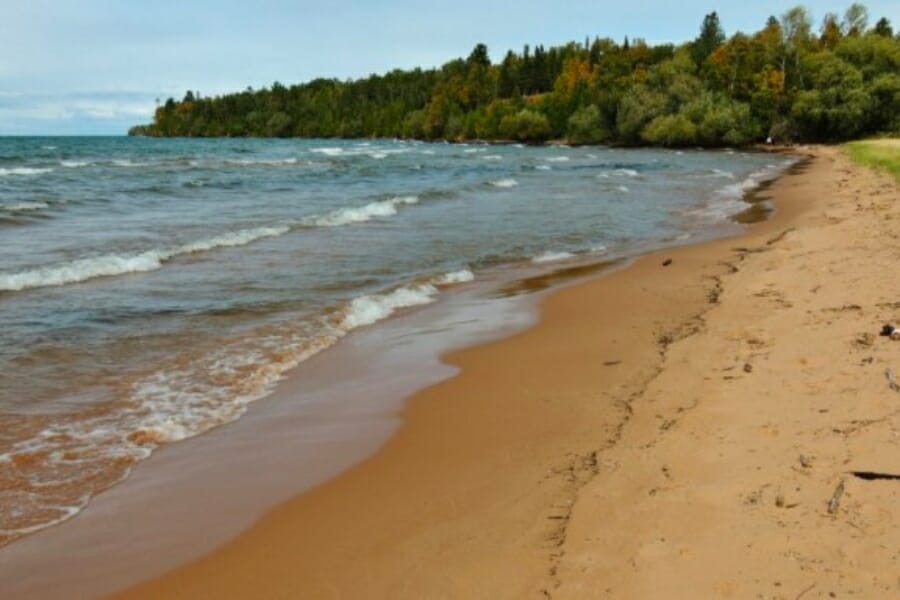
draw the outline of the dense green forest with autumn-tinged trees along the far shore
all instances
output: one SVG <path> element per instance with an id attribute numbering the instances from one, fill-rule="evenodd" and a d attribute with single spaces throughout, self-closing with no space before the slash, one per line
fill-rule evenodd
<path id="1" fill-rule="evenodd" d="M 900 134 L 900 34 L 871 21 L 861 4 L 818 25 L 795 7 L 729 37 L 713 12 L 680 45 L 596 37 L 499 63 L 479 44 L 435 69 L 189 91 L 129 134 L 708 147 Z"/>

